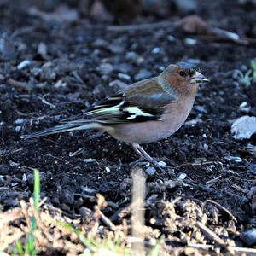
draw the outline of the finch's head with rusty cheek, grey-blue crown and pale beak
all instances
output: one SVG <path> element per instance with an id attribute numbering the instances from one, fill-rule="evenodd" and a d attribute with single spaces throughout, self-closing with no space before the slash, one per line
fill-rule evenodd
<path id="1" fill-rule="evenodd" d="M 186 62 L 169 65 L 160 76 L 173 90 L 183 94 L 196 92 L 199 84 L 210 81 L 198 67 Z"/>

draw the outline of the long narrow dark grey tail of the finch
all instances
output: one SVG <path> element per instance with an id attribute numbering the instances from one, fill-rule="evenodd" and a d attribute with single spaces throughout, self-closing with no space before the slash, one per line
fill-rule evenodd
<path id="1" fill-rule="evenodd" d="M 20 138 L 29 139 L 29 138 L 33 138 L 33 137 L 41 137 L 41 136 L 46 136 L 46 135 L 61 133 L 61 132 L 67 132 L 67 131 L 96 129 L 96 128 L 99 128 L 98 126 L 99 126 L 99 124 L 96 124 L 96 123 L 69 122 L 64 125 L 56 125 L 52 128 L 45 129 L 43 131 L 37 131 L 37 132 L 31 133 L 31 134 L 22 135 L 22 136 L 20 136 Z"/>

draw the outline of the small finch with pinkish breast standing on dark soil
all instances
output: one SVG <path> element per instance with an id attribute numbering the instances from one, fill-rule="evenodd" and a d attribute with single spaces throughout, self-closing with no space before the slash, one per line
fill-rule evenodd
<path id="1" fill-rule="evenodd" d="M 67 131 L 105 131 L 131 144 L 139 155 L 135 162 L 155 163 L 141 144 L 159 141 L 176 132 L 189 116 L 199 84 L 209 81 L 198 67 L 188 62 L 170 64 L 158 76 L 138 81 L 95 102 L 82 113 L 61 120 L 61 125 L 21 138 Z"/>

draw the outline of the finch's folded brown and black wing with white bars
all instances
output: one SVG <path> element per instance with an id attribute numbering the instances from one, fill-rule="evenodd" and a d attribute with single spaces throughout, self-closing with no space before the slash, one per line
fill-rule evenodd
<path id="1" fill-rule="evenodd" d="M 167 94 L 160 85 L 156 86 L 156 83 L 155 78 L 131 84 L 119 94 L 96 102 L 92 107 L 85 109 L 83 114 L 64 121 L 84 120 L 120 124 L 160 119 L 166 105 L 174 102 L 176 97 Z"/>

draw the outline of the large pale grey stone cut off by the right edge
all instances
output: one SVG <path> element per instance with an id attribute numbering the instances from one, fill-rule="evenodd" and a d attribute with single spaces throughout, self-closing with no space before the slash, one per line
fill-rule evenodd
<path id="1" fill-rule="evenodd" d="M 231 133 L 237 140 L 249 139 L 256 132 L 256 117 L 242 116 L 231 126 Z"/>

